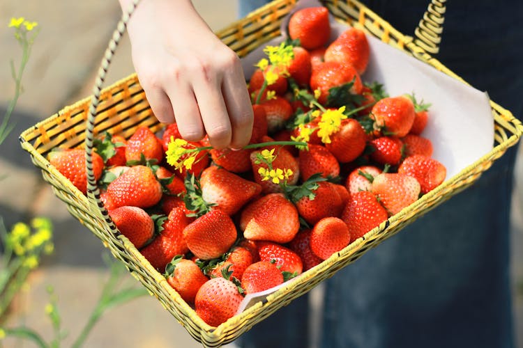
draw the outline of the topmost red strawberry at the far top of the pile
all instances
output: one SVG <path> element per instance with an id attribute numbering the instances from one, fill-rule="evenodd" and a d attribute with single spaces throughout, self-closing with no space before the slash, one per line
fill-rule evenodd
<path id="1" fill-rule="evenodd" d="M 323 6 L 302 8 L 289 18 L 289 37 L 300 40 L 301 47 L 317 49 L 326 45 L 331 36 L 328 9 Z"/>

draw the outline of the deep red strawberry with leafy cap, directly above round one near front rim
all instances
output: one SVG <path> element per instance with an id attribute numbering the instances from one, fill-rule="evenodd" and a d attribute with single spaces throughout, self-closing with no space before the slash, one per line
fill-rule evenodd
<path id="1" fill-rule="evenodd" d="M 330 182 L 318 182 L 312 191 L 314 198 L 303 196 L 296 202 L 296 208 L 305 221 L 314 225 L 327 216 L 340 216 L 343 205 L 340 195 Z"/>

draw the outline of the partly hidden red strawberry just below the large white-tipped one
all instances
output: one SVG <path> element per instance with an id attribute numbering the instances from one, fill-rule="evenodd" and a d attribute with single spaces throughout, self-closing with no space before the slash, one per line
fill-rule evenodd
<path id="1" fill-rule="evenodd" d="M 303 271 L 303 262 L 298 254 L 291 251 L 278 243 L 258 242 L 259 260 L 272 261 L 280 268 L 280 271 L 286 271 L 291 274 L 301 274 Z"/>

